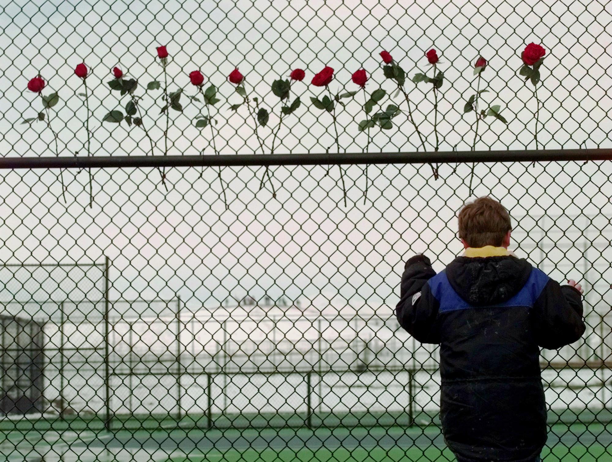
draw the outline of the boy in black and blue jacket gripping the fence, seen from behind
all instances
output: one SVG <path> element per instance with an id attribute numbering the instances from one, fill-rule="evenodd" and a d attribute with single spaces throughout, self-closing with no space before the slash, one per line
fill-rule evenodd
<path id="1" fill-rule="evenodd" d="M 510 216 L 490 197 L 459 213 L 465 254 L 436 274 L 416 255 L 395 313 L 422 343 L 439 343 L 440 418 L 458 462 L 539 461 L 547 411 L 539 347 L 584 333 L 580 284 L 560 286 L 510 245 Z"/>

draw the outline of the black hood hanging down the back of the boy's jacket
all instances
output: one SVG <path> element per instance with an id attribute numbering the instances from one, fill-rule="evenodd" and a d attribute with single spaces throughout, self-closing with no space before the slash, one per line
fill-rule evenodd
<path id="1" fill-rule="evenodd" d="M 446 267 L 450 285 L 474 306 L 503 303 L 516 295 L 529 279 L 532 266 L 512 255 L 457 257 Z"/>

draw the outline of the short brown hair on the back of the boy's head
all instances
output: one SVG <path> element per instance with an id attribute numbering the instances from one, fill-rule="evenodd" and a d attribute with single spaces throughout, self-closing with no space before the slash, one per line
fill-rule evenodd
<path id="1" fill-rule="evenodd" d="M 510 214 L 490 197 L 479 197 L 459 212 L 459 237 L 470 247 L 499 247 L 510 230 Z"/>

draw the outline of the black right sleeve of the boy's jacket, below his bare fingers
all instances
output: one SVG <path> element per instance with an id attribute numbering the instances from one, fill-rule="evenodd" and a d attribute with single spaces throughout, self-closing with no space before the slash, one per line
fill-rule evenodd
<path id="1" fill-rule="evenodd" d="M 576 342 L 584 334 L 582 294 L 549 279 L 534 303 L 535 338 L 548 350 Z"/>

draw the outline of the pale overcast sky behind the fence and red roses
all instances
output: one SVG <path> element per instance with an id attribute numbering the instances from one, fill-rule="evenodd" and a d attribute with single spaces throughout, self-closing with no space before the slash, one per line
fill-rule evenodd
<path id="1" fill-rule="evenodd" d="M 62 156 L 86 155 L 86 111 L 78 93 L 81 79 L 73 68 L 86 62 L 92 69 L 89 120 L 93 155 L 145 155 L 150 144 L 143 130 L 102 123 L 111 109 L 122 109 L 105 86 L 118 65 L 138 79 L 143 95 L 144 123 L 163 155 L 165 117 L 159 115 L 162 90 L 146 92 L 146 83 L 162 79 L 155 46 L 170 53 L 170 90 L 185 88 L 195 95 L 188 73 L 200 69 L 218 87 L 222 100 L 215 111 L 217 148 L 222 153 L 261 153 L 252 119 L 226 80 L 234 67 L 247 76 L 247 91 L 271 111 L 269 127 L 259 129 L 269 153 L 280 104 L 270 91 L 274 79 L 291 68 L 305 68 L 304 82 L 292 87 L 302 106 L 283 120 L 277 153 L 325 152 L 334 144 L 331 117 L 310 104 L 321 92 L 309 83 L 324 65 L 334 67 L 333 92 L 356 90 L 351 74 L 364 67 L 366 90 L 383 88 L 386 106 L 406 111 L 386 81 L 379 52 L 389 51 L 411 77 L 431 75 L 424 57 L 432 46 L 441 56 L 439 69 L 447 81 L 439 102 L 440 149 L 471 148 L 474 112 L 463 114 L 465 100 L 476 89 L 473 63 L 479 54 L 489 61 L 482 74 L 484 106 L 501 105 L 504 125 L 490 117 L 480 124 L 477 149 L 534 149 L 535 100 L 531 84 L 518 76 L 520 53 L 529 42 L 542 43 L 543 101 L 539 140 L 553 148 L 611 147 L 610 76 L 611 11 L 608 4 L 576 1 L 396 2 L 396 1 L 60 1 L 39 5 L 16 0 L 0 9 L 0 152 L 5 156 L 53 156 L 53 135 L 43 123 L 21 125 L 34 117 L 40 98 L 26 90 L 29 78 L 41 73 L 48 82 L 43 94 L 58 91 L 60 103 L 51 125 L 59 133 Z M 416 106 L 416 122 L 433 135 L 433 94 L 430 86 L 406 82 Z M 400 95 L 401 96 L 401 95 Z M 209 127 L 193 125 L 203 109 L 188 100 L 184 111 L 171 112 L 168 155 L 213 153 Z M 367 134 L 357 131 L 364 118 L 360 92 L 346 100 L 338 114 L 340 150 L 362 152 Z M 370 151 L 413 151 L 419 140 L 405 114 L 389 131 L 372 129 Z M 397 125 L 399 127 L 397 127 Z M 217 134 L 218 130 L 218 134 Z M 335 147 L 332 147 L 332 151 Z M 58 171 L 4 171 L 0 183 L 0 259 L 5 263 L 99 262 L 110 257 L 111 298 L 166 298 L 180 295 L 190 310 L 217 307 L 231 294 L 259 298 L 286 295 L 312 301 L 318 310 L 351 303 L 355 307 L 394 306 L 404 260 L 414 252 L 435 259 L 436 270 L 460 251 L 455 238 L 456 213 L 469 196 L 469 166 L 440 167 L 433 180 L 429 166 L 370 166 L 364 205 L 363 166 L 345 166 L 348 207 L 342 204 L 338 167 L 275 167 L 277 199 L 269 184 L 258 191 L 262 170 L 223 169 L 230 210 L 225 211 L 217 172 L 171 169 L 170 191 L 152 169 L 93 171 L 94 207 L 88 204 L 87 172 L 64 172 L 67 203 L 61 199 Z M 491 194 L 510 209 L 520 237 L 517 253 L 540 263 L 559 280 L 584 274 L 584 250 L 599 303 L 610 299 L 610 175 L 609 163 L 482 164 L 477 166 L 472 196 Z M 373 184 L 371 183 L 373 180 Z M 591 218 L 585 218 L 581 214 Z M 567 215 L 558 226 L 542 215 Z M 526 217 L 526 218 L 521 218 Z M 572 220 L 576 218 L 572 226 Z M 606 218 L 607 217 L 607 218 Z M 548 234 L 550 248 L 542 257 L 537 245 Z M 557 233 L 554 235 L 554 233 Z M 554 237 L 553 237 L 554 235 Z M 597 244 L 595 244 L 597 243 Z M 585 247 L 586 246 L 586 247 Z M 576 266 L 575 270 L 572 267 Z M 2 299 L 97 298 L 103 290 L 99 269 L 78 283 L 44 284 L 40 276 L 5 285 Z M 606 279 L 607 278 L 607 279 Z M 27 277 L 26 277 L 27 279 Z M 89 280 L 89 281 L 88 281 Z M 607 285 L 606 285 L 607 284 Z M 47 285 L 45 287 L 47 287 Z M 51 287 L 53 286 L 54 287 Z M 58 287 L 60 287 L 58 291 Z M 607 287 L 607 289 L 606 289 Z M 62 295 L 62 291 L 64 295 Z M 606 292 L 607 291 L 607 292 Z M 29 294 L 34 294 L 31 296 Z M 66 295 L 67 294 L 67 295 Z M 308 301 L 310 300 L 310 301 Z M 43 300 L 44 301 L 44 300 Z"/>

